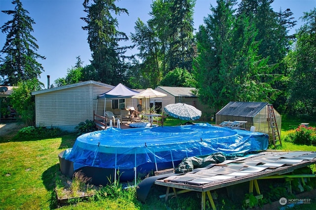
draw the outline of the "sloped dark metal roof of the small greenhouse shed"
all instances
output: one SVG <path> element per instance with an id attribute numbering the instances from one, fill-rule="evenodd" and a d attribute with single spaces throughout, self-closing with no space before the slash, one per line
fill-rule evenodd
<path id="1" fill-rule="evenodd" d="M 266 102 L 230 102 L 216 115 L 254 117 L 266 105 L 268 105 Z"/>

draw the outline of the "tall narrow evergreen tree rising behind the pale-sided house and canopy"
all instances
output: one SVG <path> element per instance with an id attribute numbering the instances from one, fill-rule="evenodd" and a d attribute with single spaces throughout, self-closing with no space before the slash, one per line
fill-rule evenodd
<path id="1" fill-rule="evenodd" d="M 88 43 L 92 51 L 91 64 L 98 72 L 98 80 L 116 85 L 126 80 L 124 52 L 127 47 L 120 47 L 119 41 L 126 41 L 128 37 L 118 31 L 118 20 L 112 15 L 127 13 L 124 8 L 115 5 L 115 0 L 88 0 L 83 2 L 87 16 L 81 18 L 87 26 Z"/>

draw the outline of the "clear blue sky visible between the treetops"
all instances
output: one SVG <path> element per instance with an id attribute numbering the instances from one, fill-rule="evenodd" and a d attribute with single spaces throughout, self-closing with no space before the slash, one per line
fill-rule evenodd
<path id="1" fill-rule="evenodd" d="M 0 0 L 0 10 L 13 10 L 12 0 Z M 81 29 L 85 23 L 80 17 L 86 14 L 82 11 L 83 0 L 21 0 L 24 9 L 36 22 L 33 25 L 34 37 L 39 45 L 38 53 L 45 56 L 39 60 L 44 67 L 40 81 L 47 86 L 47 75 L 50 75 L 50 84 L 58 77 L 65 77 L 67 70 L 75 66 L 76 57 L 80 56 L 83 65 L 90 64 L 91 52 L 87 43 L 87 33 Z M 119 30 L 126 35 L 134 32 L 134 25 L 139 17 L 146 22 L 150 19 L 152 0 L 119 0 L 116 4 L 126 8 L 129 15 L 118 17 Z M 198 29 L 203 24 L 203 18 L 210 14 L 210 5 L 216 6 L 216 0 L 197 0 L 194 14 L 194 25 Z M 293 17 L 298 21 L 295 29 L 301 26 L 299 17 L 303 12 L 316 7 L 316 0 L 275 0 L 272 4 L 275 11 L 279 8 L 290 8 Z M 12 19 L 12 16 L 0 12 L 0 26 Z M 293 29 L 290 33 L 295 32 Z M 5 35 L 0 33 L 0 49 L 5 42 Z M 130 43 L 126 42 L 126 45 Z"/>

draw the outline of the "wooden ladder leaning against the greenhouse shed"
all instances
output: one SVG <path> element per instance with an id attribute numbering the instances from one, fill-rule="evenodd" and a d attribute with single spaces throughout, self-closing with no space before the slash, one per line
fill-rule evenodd
<path id="1" fill-rule="evenodd" d="M 279 141 L 280 145 L 281 138 L 276 124 L 276 114 L 273 105 L 268 105 L 268 116 L 269 116 L 269 141 L 273 141 L 273 145 L 276 146 L 276 142 Z"/>

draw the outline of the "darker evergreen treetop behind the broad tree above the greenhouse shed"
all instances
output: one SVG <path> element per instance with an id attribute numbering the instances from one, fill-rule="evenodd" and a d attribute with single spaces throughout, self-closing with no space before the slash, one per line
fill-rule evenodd
<path id="1" fill-rule="evenodd" d="M 268 64 L 278 65 L 286 55 L 291 36 L 288 29 L 295 25 L 290 9 L 275 12 L 271 6 L 274 0 L 241 0 L 237 14 L 244 14 L 254 23 L 258 34 L 256 41 L 260 42 L 258 53 L 262 58 L 269 58 Z M 283 73 L 282 70 L 277 73 Z M 284 69 L 283 69 L 284 70 Z"/>

